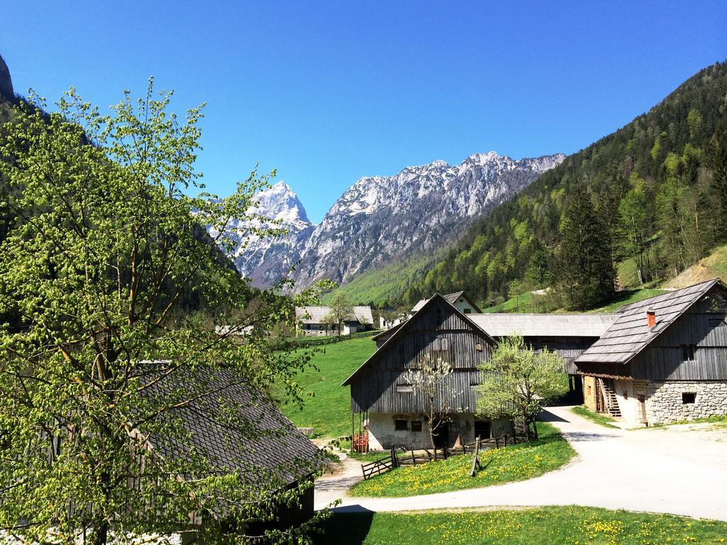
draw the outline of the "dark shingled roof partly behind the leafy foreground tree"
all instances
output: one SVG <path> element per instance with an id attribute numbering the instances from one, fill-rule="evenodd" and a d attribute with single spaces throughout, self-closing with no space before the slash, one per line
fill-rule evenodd
<path id="1" fill-rule="evenodd" d="M 196 451 L 220 472 L 237 470 L 265 490 L 269 490 L 271 480 L 289 485 L 324 464 L 316 445 L 268 397 L 246 385 L 230 369 L 177 373 L 162 379 L 147 394 L 162 392 L 172 399 L 177 395 L 193 399 L 170 411 L 170 418 L 187 436 L 183 441 L 177 435 L 150 437 L 153 448 L 164 456 L 190 459 L 190 453 Z M 225 417 L 220 418 L 223 414 Z"/>

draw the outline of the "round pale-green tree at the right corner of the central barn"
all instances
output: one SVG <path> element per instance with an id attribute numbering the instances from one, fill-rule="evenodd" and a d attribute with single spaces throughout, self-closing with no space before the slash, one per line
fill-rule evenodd
<path id="1" fill-rule="evenodd" d="M 491 419 L 523 419 L 528 440 L 537 439 L 535 419 L 542 408 L 567 392 L 563 360 L 549 350 L 536 352 L 521 336 L 501 339 L 480 366 L 477 409 Z"/>

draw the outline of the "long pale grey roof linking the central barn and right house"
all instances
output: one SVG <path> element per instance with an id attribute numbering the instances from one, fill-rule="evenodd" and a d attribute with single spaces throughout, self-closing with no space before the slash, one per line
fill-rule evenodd
<path id="1" fill-rule="evenodd" d="M 598 337 L 615 314 L 470 314 L 470 319 L 491 336 Z"/>

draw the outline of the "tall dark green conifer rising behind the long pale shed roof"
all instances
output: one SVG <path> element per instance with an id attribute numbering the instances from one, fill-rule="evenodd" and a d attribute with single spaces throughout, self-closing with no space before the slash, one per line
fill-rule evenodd
<path id="1" fill-rule="evenodd" d="M 558 291 L 571 309 L 598 307 L 614 296 L 611 235 L 582 185 L 573 189 L 561 232 Z"/>

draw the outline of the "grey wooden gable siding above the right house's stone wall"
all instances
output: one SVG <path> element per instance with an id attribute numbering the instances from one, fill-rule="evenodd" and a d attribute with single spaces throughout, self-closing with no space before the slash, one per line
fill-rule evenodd
<path id="1" fill-rule="evenodd" d="M 715 296 L 695 304 L 635 358 L 634 378 L 727 380 L 725 306 Z M 696 346 L 694 361 L 683 361 L 684 344 Z"/>

